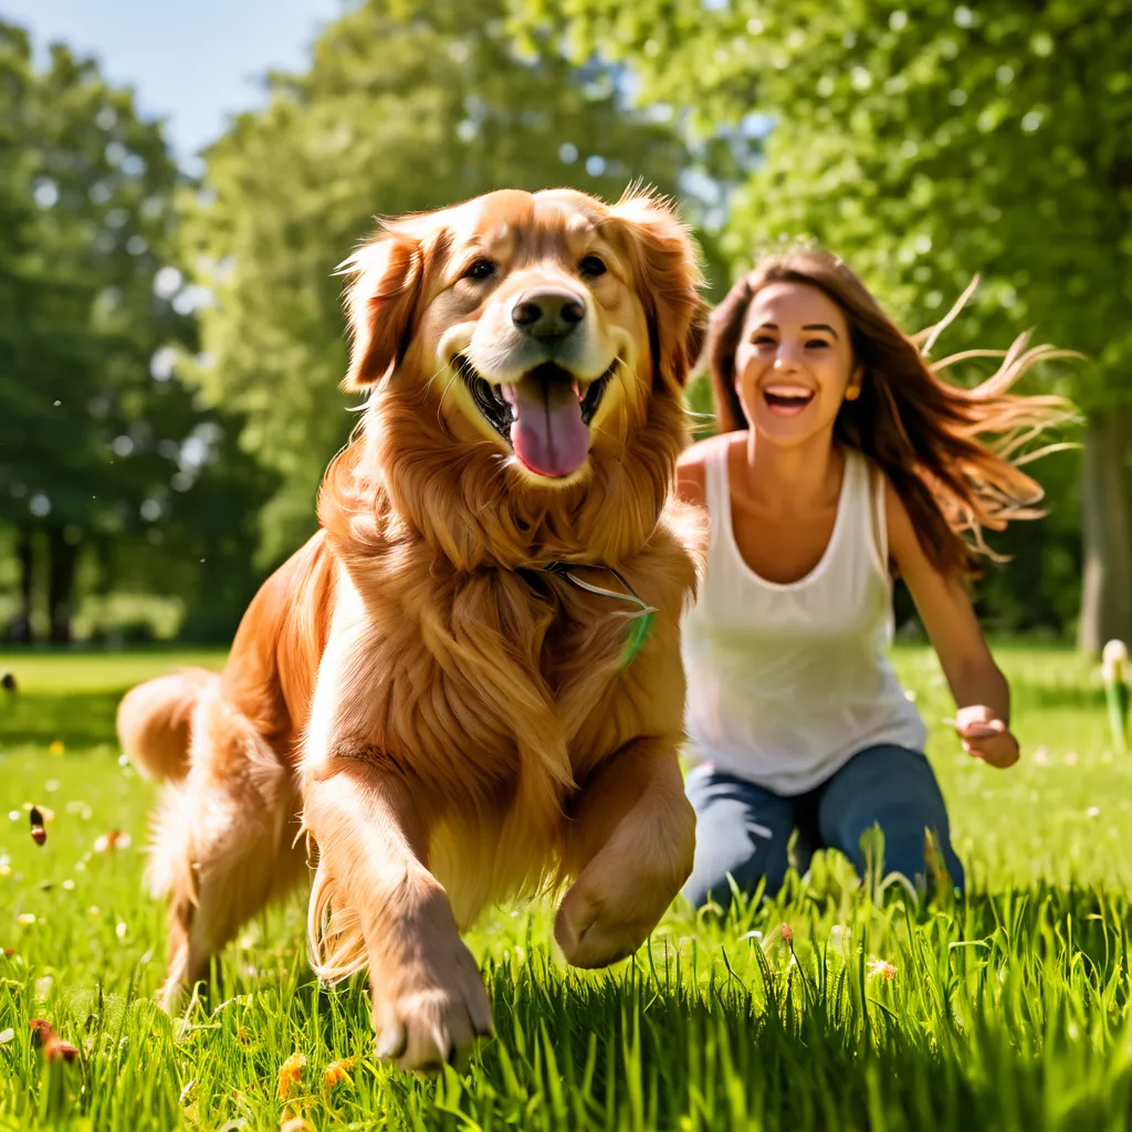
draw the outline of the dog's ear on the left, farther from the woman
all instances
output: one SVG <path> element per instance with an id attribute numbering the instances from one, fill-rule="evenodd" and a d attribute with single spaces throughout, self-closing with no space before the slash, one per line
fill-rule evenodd
<path id="1" fill-rule="evenodd" d="M 424 278 L 420 240 L 396 224 L 384 228 L 338 268 L 349 278 L 350 368 L 342 388 L 380 381 L 404 357 Z"/>

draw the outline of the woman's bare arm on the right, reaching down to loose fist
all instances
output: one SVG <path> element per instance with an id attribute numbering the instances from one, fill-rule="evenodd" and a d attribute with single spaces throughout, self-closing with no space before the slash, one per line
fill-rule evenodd
<path id="1" fill-rule="evenodd" d="M 1010 686 L 990 655 L 970 599 L 959 580 L 945 577 L 928 560 L 908 509 L 887 482 L 885 513 L 889 551 L 955 697 L 963 749 L 992 766 L 1011 766 L 1019 751 L 1010 732 Z"/>

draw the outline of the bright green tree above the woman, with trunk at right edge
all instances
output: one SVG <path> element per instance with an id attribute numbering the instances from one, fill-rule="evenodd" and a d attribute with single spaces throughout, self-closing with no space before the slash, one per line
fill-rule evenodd
<path id="1" fill-rule="evenodd" d="M 694 104 L 702 128 L 754 111 L 773 125 L 730 201 L 736 271 L 782 234 L 812 234 L 907 325 L 934 321 L 980 272 L 958 335 L 1002 342 L 1032 325 L 1089 355 L 1073 388 L 1088 418 L 1079 641 L 1132 637 L 1132 5 L 516 8 L 528 28 L 565 28 L 581 57 L 600 44 L 628 60 L 642 97 Z"/>

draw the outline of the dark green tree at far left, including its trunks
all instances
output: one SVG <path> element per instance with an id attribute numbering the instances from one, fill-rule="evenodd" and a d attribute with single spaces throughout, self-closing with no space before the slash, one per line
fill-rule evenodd
<path id="1" fill-rule="evenodd" d="M 10 24 L 0 110 L 0 523 L 17 532 L 22 573 L 12 635 L 31 637 L 42 571 L 50 637 L 66 642 L 82 556 L 152 560 L 169 538 L 190 544 L 182 520 L 207 461 L 183 465 L 201 429 L 216 447 L 222 426 L 194 408 L 166 357 L 194 348 L 196 325 L 170 265 L 179 174 L 161 127 L 66 46 L 36 71 Z"/>

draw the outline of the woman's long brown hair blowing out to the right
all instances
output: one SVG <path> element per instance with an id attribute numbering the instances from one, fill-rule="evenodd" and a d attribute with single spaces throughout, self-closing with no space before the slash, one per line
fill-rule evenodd
<path id="1" fill-rule="evenodd" d="M 1077 358 L 1053 346 L 1029 346 L 1022 335 L 1007 351 L 968 350 L 929 363 L 926 353 L 959 312 L 974 284 L 936 326 L 906 335 L 864 283 L 835 256 L 815 248 L 763 259 L 728 292 L 712 315 L 706 355 L 721 432 L 749 427 L 735 388 L 735 353 L 747 309 L 770 283 L 804 283 L 832 299 L 849 324 L 854 361 L 865 367 L 860 396 L 846 401 L 834 437 L 873 460 L 895 488 L 931 561 L 943 574 L 971 576 L 979 556 L 995 557 L 983 529 L 1036 518 L 1041 486 L 1019 470 L 1022 449 L 1046 427 L 1067 420 L 1062 397 L 1022 396 L 1010 387 L 1040 361 Z M 920 343 L 927 345 L 921 353 Z M 975 357 L 998 357 L 997 372 L 974 389 L 940 371 Z"/>

